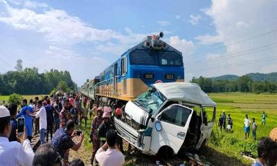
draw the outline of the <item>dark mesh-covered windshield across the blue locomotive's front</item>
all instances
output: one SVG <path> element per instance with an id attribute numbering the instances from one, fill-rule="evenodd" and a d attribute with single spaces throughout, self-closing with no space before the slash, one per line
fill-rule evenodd
<path id="1" fill-rule="evenodd" d="M 179 53 L 170 50 L 143 50 L 132 51 L 131 64 L 156 66 L 183 66 L 183 58 Z"/>

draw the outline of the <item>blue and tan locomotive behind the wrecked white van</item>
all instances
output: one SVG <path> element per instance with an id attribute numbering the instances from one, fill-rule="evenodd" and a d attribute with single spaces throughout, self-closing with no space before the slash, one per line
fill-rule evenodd
<path id="1" fill-rule="evenodd" d="M 102 102 L 133 100 L 158 82 L 184 82 L 183 57 L 161 40 L 163 33 L 146 37 L 129 48 L 80 92 Z"/>

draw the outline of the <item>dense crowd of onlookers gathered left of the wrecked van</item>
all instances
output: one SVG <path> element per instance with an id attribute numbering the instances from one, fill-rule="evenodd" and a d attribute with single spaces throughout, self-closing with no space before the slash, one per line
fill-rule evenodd
<path id="1" fill-rule="evenodd" d="M 121 113 L 120 109 L 116 109 Z M 0 165 L 84 165 L 82 160 L 69 162 L 69 151 L 78 151 L 84 140 L 88 115 L 91 122 L 91 165 L 124 165 L 122 139 L 117 135 L 110 107 L 98 107 L 78 92 L 38 97 L 27 102 L 0 106 Z M 24 118 L 24 131 L 17 132 L 17 118 Z M 30 145 L 38 136 L 35 151 Z M 50 135 L 50 139 L 49 139 Z M 73 139 L 78 136 L 78 138 Z M 49 141 L 50 140 L 50 141 Z M 77 140 L 77 141 L 76 141 Z M 16 154 L 16 155 L 15 155 Z"/>

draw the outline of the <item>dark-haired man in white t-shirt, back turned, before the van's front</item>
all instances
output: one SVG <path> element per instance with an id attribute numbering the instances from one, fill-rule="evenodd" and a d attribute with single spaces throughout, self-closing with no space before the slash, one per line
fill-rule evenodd
<path id="1" fill-rule="evenodd" d="M 116 145 L 117 133 L 114 130 L 107 131 L 107 142 L 96 152 L 96 160 L 102 166 L 122 166 L 125 163 L 124 156 Z"/>

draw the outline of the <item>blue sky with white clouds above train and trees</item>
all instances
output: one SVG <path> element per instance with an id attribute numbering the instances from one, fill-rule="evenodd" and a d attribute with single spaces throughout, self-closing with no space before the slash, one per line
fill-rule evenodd
<path id="1" fill-rule="evenodd" d="M 0 0 L 0 73 L 17 59 L 79 86 L 147 35 L 181 51 L 185 80 L 277 72 L 277 0 Z"/>

